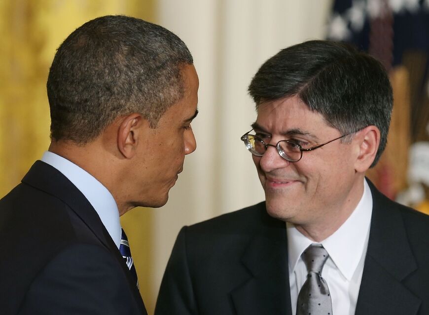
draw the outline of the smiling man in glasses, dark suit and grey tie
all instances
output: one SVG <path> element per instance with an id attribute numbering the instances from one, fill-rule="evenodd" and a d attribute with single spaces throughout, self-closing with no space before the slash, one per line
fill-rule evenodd
<path id="1" fill-rule="evenodd" d="M 257 119 L 241 139 L 265 201 L 180 231 L 155 314 L 429 314 L 429 216 L 365 179 L 392 112 L 381 64 L 307 41 L 249 91 Z"/>

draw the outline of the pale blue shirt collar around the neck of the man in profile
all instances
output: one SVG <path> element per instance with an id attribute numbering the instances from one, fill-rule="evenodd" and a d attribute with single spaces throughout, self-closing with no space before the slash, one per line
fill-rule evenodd
<path id="1" fill-rule="evenodd" d="M 46 151 L 41 160 L 58 169 L 88 199 L 113 242 L 119 248 L 121 242 L 119 210 L 107 188 L 83 168 L 55 153 Z"/>

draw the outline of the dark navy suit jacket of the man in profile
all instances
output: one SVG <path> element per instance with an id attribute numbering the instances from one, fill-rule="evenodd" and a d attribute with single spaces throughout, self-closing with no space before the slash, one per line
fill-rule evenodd
<path id="1" fill-rule="evenodd" d="M 146 314 L 97 212 L 36 161 L 0 200 L 0 314 Z"/>

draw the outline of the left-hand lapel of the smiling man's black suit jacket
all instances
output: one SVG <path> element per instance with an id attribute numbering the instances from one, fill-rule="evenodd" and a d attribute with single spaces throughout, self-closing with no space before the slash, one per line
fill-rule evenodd
<path id="1" fill-rule="evenodd" d="M 242 256 L 250 278 L 231 293 L 238 315 L 291 315 L 286 225 L 266 220 L 270 225 L 250 241 Z"/>

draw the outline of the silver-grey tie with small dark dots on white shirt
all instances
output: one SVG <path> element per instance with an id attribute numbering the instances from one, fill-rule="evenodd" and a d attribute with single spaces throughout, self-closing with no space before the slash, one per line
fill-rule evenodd
<path id="1" fill-rule="evenodd" d="M 332 301 L 322 269 L 329 255 L 322 245 L 310 245 L 301 258 L 307 266 L 307 280 L 299 291 L 296 315 L 332 315 Z"/>

